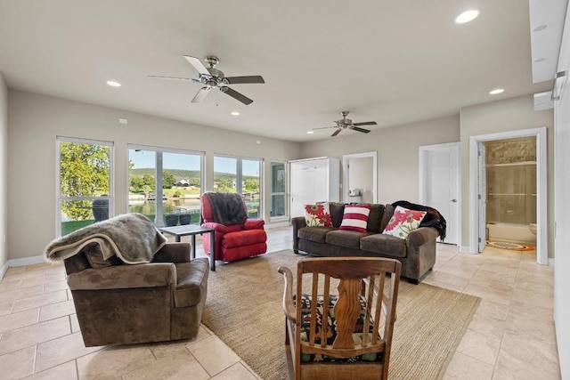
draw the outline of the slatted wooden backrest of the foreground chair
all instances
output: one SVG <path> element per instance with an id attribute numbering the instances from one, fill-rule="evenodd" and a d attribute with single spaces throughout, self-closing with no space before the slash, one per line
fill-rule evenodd
<path id="1" fill-rule="evenodd" d="M 366 257 L 300 261 L 296 300 L 302 302 L 296 302 L 297 352 L 338 359 L 378 352 L 387 374 L 401 266 L 393 259 Z"/>

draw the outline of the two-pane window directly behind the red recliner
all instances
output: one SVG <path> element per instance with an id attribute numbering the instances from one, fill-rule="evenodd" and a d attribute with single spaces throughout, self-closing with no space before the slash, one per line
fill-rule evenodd
<path id="1" fill-rule="evenodd" d="M 241 194 L 250 218 L 261 218 L 261 160 L 214 157 L 214 190 Z"/>

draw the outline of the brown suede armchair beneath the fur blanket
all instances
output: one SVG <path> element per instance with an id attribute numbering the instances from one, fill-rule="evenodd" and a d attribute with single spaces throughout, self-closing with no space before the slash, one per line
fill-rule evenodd
<path id="1" fill-rule="evenodd" d="M 208 259 L 190 260 L 188 243 L 169 243 L 151 263 L 83 252 L 65 270 L 85 346 L 189 339 L 198 334 L 208 291 Z"/>

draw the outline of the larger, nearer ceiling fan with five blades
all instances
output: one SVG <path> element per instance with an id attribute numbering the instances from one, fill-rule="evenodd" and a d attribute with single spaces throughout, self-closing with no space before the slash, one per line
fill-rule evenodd
<path id="1" fill-rule="evenodd" d="M 198 93 L 192 99 L 192 103 L 198 103 L 206 98 L 206 95 L 213 88 L 217 88 L 222 93 L 230 95 L 233 99 L 241 101 L 243 104 L 248 105 L 253 101 L 247 96 L 238 93 L 227 85 L 243 85 L 249 83 L 265 83 L 265 80 L 261 76 L 248 76 L 248 77 L 224 77 L 224 72 L 215 69 L 214 67 L 218 64 L 220 60 L 213 55 L 208 55 L 204 57 L 204 61 L 208 64 L 208 68 L 202 64 L 196 57 L 191 57 L 190 55 L 184 55 L 186 61 L 198 70 L 199 78 L 187 78 L 187 77 L 159 77 L 159 76 L 149 76 L 159 79 L 174 79 L 174 80 L 191 80 L 192 82 L 199 83 L 202 88 L 199 89 Z"/>

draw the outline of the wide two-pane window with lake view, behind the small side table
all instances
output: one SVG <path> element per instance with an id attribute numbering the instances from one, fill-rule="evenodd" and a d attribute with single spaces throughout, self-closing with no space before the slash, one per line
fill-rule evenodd
<path id="1" fill-rule="evenodd" d="M 129 212 L 157 226 L 199 224 L 202 152 L 129 145 Z"/>

